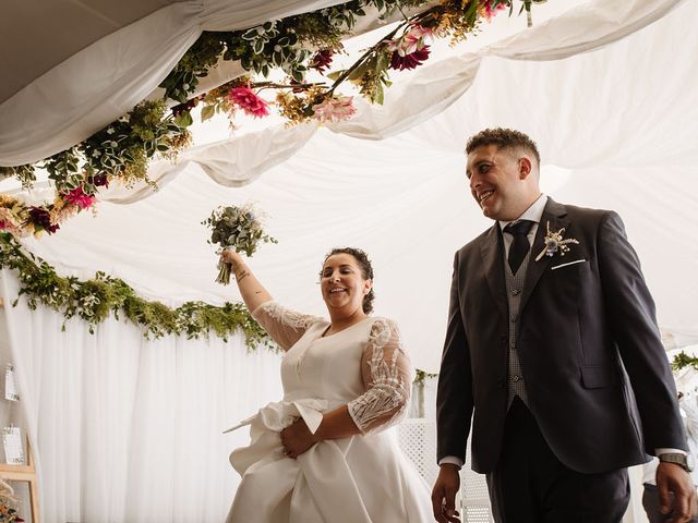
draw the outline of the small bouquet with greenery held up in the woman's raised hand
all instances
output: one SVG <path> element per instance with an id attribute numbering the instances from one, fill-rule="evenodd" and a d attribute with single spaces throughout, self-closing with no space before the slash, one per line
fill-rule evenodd
<path id="1" fill-rule="evenodd" d="M 232 248 L 238 253 L 252 256 L 260 242 L 278 243 L 264 232 L 251 204 L 242 207 L 218 207 L 210 214 L 210 217 L 202 221 L 202 224 L 210 228 L 208 243 L 220 245 L 221 251 L 224 248 Z M 230 283 L 231 265 L 220 260 L 218 269 L 216 283 L 222 283 L 224 285 Z"/>

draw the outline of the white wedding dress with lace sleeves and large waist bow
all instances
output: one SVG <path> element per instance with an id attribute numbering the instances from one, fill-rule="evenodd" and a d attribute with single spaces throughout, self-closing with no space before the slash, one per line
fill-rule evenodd
<path id="1" fill-rule="evenodd" d="M 430 490 L 387 429 L 405 412 L 412 370 L 396 326 L 368 317 L 323 337 L 327 320 L 267 302 L 253 316 L 287 351 L 284 400 L 260 410 L 251 443 L 230 454 L 242 476 L 228 523 L 431 522 Z M 362 434 L 322 441 L 296 460 L 279 431 L 302 416 L 312 431 L 322 413 L 348 404 Z"/>

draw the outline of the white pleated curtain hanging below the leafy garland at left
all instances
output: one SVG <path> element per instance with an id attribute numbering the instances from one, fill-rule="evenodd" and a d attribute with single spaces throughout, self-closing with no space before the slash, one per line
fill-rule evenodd
<path id="1" fill-rule="evenodd" d="M 248 435 L 221 433 L 280 398 L 279 355 L 238 336 L 147 341 L 113 318 L 61 332 L 62 315 L 12 307 L 17 291 L 2 271 L 41 521 L 222 521 L 239 483 L 228 454 Z"/>

